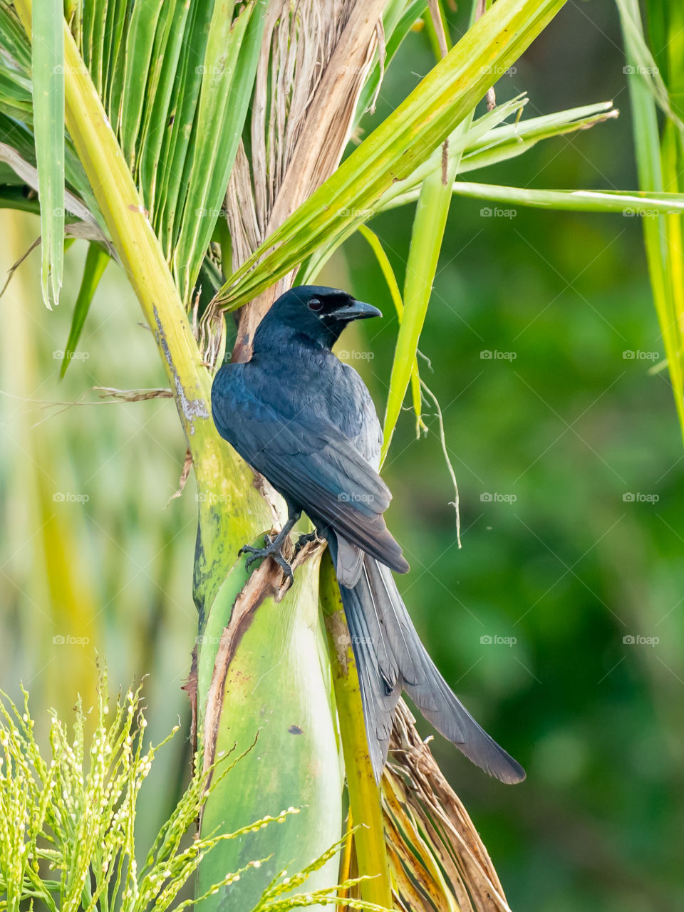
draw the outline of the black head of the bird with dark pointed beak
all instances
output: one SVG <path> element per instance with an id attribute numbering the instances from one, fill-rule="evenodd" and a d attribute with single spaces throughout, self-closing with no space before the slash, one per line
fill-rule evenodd
<path id="1" fill-rule="evenodd" d="M 382 314 L 377 307 L 357 301 L 346 291 L 325 285 L 298 285 L 280 295 L 259 328 L 288 326 L 318 345 L 331 348 L 348 323 L 369 316 Z"/>

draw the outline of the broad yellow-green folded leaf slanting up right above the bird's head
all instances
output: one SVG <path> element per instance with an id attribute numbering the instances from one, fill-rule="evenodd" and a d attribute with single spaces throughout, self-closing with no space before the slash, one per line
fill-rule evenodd
<path id="1" fill-rule="evenodd" d="M 447 139 L 492 82 L 562 5 L 499 0 L 367 140 L 231 276 L 217 296 L 237 307 L 287 275 L 331 234 L 343 233 L 394 181 L 408 177 Z"/>

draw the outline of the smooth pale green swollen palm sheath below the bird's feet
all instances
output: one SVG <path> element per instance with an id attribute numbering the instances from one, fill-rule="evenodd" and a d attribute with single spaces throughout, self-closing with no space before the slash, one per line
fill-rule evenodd
<path id="1" fill-rule="evenodd" d="M 219 845 L 202 862 L 199 895 L 259 860 L 258 875 L 205 899 L 200 907 L 253 908 L 264 884 L 284 868 L 302 870 L 337 842 L 342 769 L 329 664 L 318 618 L 320 552 L 309 550 L 282 596 L 280 570 L 266 562 L 249 577 L 233 563 L 206 613 L 198 652 L 199 731 L 214 785 L 202 834 L 233 832 L 255 817 L 271 824 Z M 206 696 L 205 696 L 206 695 Z M 221 759 L 224 758 L 224 759 Z M 242 759 L 239 759 L 242 758 Z M 309 877 L 307 890 L 337 884 L 337 856 Z"/>

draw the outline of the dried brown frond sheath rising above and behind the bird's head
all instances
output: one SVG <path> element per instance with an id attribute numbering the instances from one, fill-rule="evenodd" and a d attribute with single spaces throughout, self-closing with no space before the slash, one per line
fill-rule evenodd
<path id="1" fill-rule="evenodd" d="M 237 269 L 335 171 L 378 47 L 384 0 L 274 0 L 256 71 L 249 155 L 241 142 L 226 193 Z M 381 26 L 380 26 L 381 27 Z M 254 329 L 290 285 L 288 275 L 239 315 L 233 360 L 249 358 Z M 220 349 L 223 318 L 205 316 L 204 357 Z"/>

